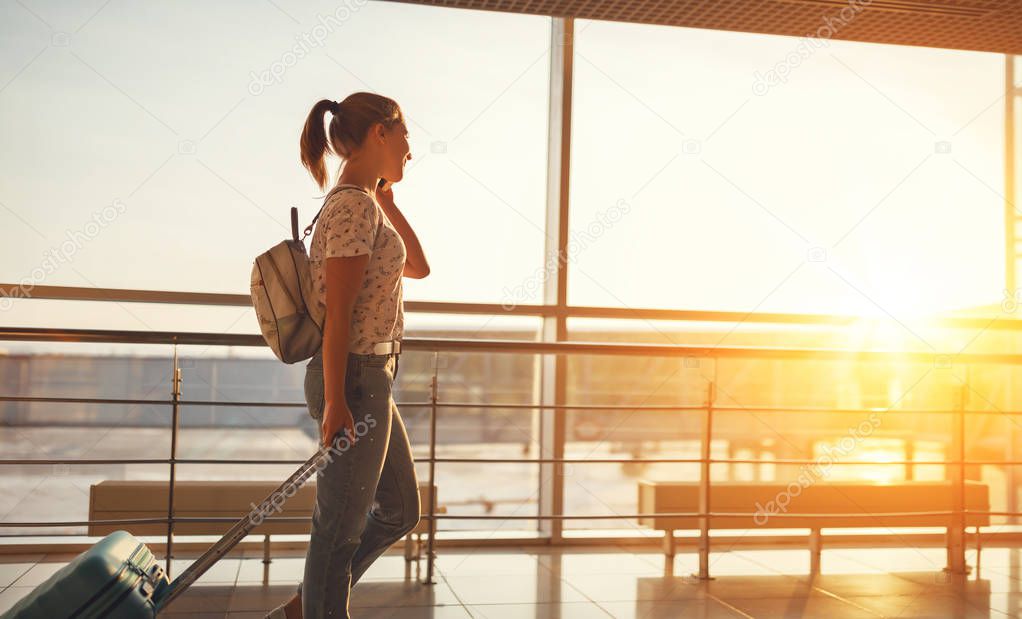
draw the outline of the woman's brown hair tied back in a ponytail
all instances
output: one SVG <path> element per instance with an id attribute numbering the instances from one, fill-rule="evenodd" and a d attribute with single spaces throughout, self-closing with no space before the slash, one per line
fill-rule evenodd
<path id="1" fill-rule="evenodd" d="M 332 115 L 328 128 L 325 126 L 327 112 Z M 382 123 L 390 128 L 404 122 L 398 102 L 375 93 L 357 92 L 340 102 L 321 99 L 313 105 L 301 130 L 301 164 L 320 189 L 325 190 L 329 184 L 328 151 L 346 159 L 362 145 L 374 124 Z"/>

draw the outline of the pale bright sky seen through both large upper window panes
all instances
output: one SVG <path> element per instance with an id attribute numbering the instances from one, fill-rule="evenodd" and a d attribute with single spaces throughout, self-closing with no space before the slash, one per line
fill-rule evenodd
<path id="1" fill-rule="evenodd" d="M 575 28 L 569 303 L 901 317 L 1001 301 L 1003 56 Z M 289 207 L 304 227 L 321 205 L 297 157 L 307 113 L 369 90 L 409 120 L 394 197 L 432 273 L 405 298 L 542 302 L 549 70 L 535 15 L 3 2 L 0 281 L 247 294 Z M 43 300 L 0 321 L 257 329 L 239 307 Z"/>

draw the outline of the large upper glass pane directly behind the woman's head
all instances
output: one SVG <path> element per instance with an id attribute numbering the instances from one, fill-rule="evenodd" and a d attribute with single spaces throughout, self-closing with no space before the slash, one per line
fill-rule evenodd
<path id="1" fill-rule="evenodd" d="M 305 227 L 322 204 L 298 161 L 306 114 L 356 91 L 409 120 L 394 197 L 432 275 L 406 298 L 500 302 L 540 267 L 549 18 L 385 2 L 93 12 L 0 8 L 0 281 L 247 293 L 289 207 Z"/>

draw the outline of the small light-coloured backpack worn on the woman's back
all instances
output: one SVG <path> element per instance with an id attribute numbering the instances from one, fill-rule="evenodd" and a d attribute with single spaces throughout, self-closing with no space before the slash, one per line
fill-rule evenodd
<path id="1" fill-rule="evenodd" d="M 323 345 L 323 320 L 321 312 L 310 307 L 313 276 L 306 252 L 306 237 L 323 213 L 326 202 L 334 191 L 356 185 L 338 185 L 323 200 L 313 223 L 298 238 L 298 209 L 291 207 L 291 238 L 285 239 L 258 256 L 252 264 L 251 297 L 256 318 L 259 320 L 263 339 L 285 364 L 294 364 L 312 358 Z M 313 316 L 313 314 L 317 316 Z"/>

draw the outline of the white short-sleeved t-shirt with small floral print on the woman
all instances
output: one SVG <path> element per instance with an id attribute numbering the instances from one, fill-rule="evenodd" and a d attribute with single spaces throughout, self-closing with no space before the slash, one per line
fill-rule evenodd
<path id="1" fill-rule="evenodd" d="M 326 259 L 363 253 L 369 264 L 352 308 L 347 349 L 366 354 L 377 342 L 400 340 L 404 333 L 405 242 L 376 200 L 355 186 L 337 186 L 326 196 L 309 250 L 317 320 L 326 316 Z"/>

